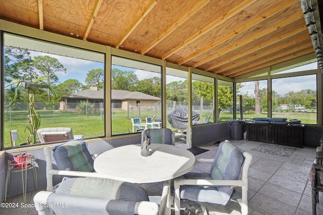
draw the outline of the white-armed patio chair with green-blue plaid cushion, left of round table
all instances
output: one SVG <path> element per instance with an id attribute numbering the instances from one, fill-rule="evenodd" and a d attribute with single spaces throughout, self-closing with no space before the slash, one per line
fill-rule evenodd
<path id="1" fill-rule="evenodd" d="M 52 167 L 52 157 L 57 169 Z M 47 191 L 52 191 L 53 175 L 64 177 L 99 177 L 93 169 L 93 159 L 84 140 L 73 139 L 63 144 L 44 148 L 46 158 Z M 85 174 L 86 173 L 86 174 Z M 93 175 L 95 174 L 95 175 Z"/>

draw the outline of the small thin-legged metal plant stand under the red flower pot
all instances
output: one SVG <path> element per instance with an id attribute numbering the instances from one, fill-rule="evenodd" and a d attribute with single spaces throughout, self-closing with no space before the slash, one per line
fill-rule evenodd
<path id="1" fill-rule="evenodd" d="M 31 170 L 34 173 L 35 188 L 37 189 L 37 172 L 35 168 L 35 157 L 30 156 L 30 161 L 17 164 L 14 161 L 8 161 L 8 174 L 6 179 L 6 188 L 5 188 L 5 201 L 7 200 L 7 187 L 10 173 L 12 172 L 21 172 L 21 181 L 22 189 L 24 196 L 24 203 L 26 203 L 26 192 L 27 192 L 27 170 Z M 24 174 L 25 173 L 25 174 Z M 25 176 L 24 176 L 25 175 Z"/>

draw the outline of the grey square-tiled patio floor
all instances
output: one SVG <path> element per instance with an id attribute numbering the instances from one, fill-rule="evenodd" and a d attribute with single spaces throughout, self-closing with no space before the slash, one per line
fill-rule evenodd
<path id="1" fill-rule="evenodd" d="M 305 146 L 296 149 L 290 157 L 270 155 L 252 151 L 263 145 L 261 142 L 248 140 L 231 140 L 231 142 L 252 154 L 252 164 L 249 169 L 248 206 L 249 214 L 312 214 L 311 182 L 306 179 L 307 173 L 315 159 L 316 147 Z M 184 144 L 177 147 L 186 148 Z M 274 145 L 277 146 L 277 145 Z M 218 146 L 207 144 L 200 148 L 209 151 L 197 155 L 196 158 L 214 158 Z M 208 172 L 210 164 L 196 164 L 192 171 Z M 160 195 L 163 183 L 142 185 L 149 195 Z M 27 202 L 33 203 L 32 197 L 37 191 L 27 193 Z M 23 202 L 23 196 L 7 198 L 7 202 Z M 323 194 L 319 193 L 317 214 L 323 214 Z M 210 215 L 240 214 L 240 205 L 232 202 L 227 206 L 208 204 Z M 34 208 L 0 208 L 1 214 L 37 214 Z"/>

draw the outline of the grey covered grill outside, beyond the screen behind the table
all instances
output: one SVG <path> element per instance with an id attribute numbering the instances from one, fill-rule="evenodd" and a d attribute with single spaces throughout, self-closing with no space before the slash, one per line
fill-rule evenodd
<path id="1" fill-rule="evenodd" d="M 192 121 L 198 121 L 200 115 L 192 112 Z M 188 112 L 186 109 L 177 108 L 167 115 L 167 120 L 173 128 L 186 129 L 188 125 Z"/>

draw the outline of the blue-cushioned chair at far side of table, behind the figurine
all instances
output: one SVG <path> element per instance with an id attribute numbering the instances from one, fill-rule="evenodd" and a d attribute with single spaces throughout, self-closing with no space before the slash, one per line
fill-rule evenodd
<path id="1" fill-rule="evenodd" d="M 141 131 L 141 142 L 148 139 L 150 144 L 175 145 L 175 131 L 169 128 L 151 128 Z"/>

